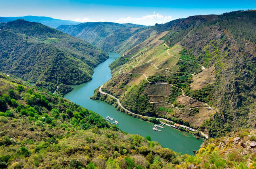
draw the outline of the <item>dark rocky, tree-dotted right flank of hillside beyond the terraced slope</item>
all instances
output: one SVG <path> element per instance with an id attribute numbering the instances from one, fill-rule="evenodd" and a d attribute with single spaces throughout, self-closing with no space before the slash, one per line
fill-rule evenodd
<path id="1" fill-rule="evenodd" d="M 225 13 L 220 18 L 195 28 L 181 41 L 206 68 L 215 67 L 211 102 L 219 112 L 203 124 L 213 137 L 256 125 L 256 12 Z"/>

